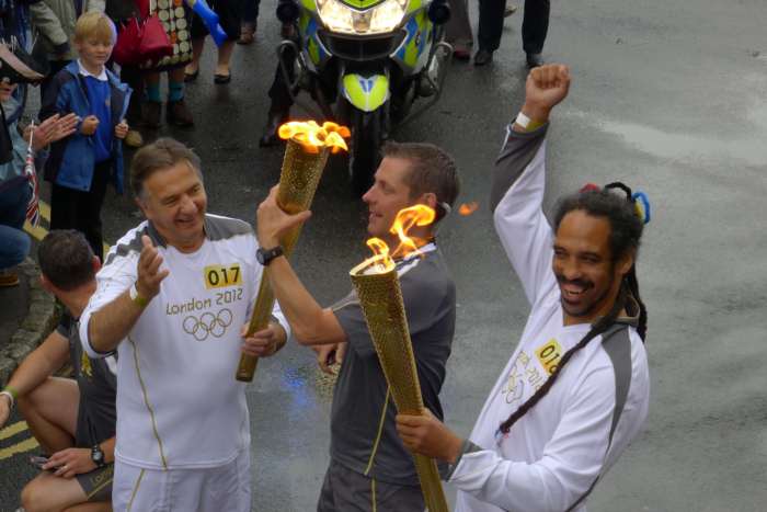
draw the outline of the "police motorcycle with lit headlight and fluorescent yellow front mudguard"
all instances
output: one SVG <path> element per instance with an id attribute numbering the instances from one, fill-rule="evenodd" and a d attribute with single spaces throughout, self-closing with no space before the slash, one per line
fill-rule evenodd
<path id="1" fill-rule="evenodd" d="M 453 55 L 449 16 L 447 0 L 279 0 L 277 18 L 297 34 L 277 47 L 283 79 L 295 103 L 316 115 L 297 98 L 308 91 L 318 118 L 350 127 L 358 195 L 373 183 L 384 140 L 438 101 Z"/>

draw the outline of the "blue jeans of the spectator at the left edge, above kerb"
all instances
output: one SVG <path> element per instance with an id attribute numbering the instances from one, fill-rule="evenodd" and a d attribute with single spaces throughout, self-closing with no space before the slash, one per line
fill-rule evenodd
<path id="1" fill-rule="evenodd" d="M 26 181 L 0 192 L 0 270 L 18 265 L 30 253 L 30 237 L 23 229 L 31 194 Z"/>

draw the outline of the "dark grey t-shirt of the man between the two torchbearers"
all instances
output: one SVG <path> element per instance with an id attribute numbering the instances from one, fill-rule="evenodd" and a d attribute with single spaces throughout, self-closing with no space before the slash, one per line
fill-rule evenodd
<path id="1" fill-rule="evenodd" d="M 424 405 L 442 419 L 439 390 L 456 323 L 456 288 L 439 250 L 398 263 L 415 365 Z M 404 272 L 404 273 L 402 273 Z M 386 403 L 387 382 L 353 292 L 333 306 L 348 349 L 341 365 L 331 411 L 331 457 L 365 474 Z M 368 475 L 380 481 L 417 486 L 410 452 L 397 434 L 397 408 L 389 397 L 384 430 Z"/>

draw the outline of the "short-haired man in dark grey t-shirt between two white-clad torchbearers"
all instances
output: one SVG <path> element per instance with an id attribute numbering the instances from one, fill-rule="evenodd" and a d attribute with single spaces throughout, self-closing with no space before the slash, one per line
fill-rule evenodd
<path id="1" fill-rule="evenodd" d="M 367 230 L 394 248 L 398 239 L 389 229 L 398 212 L 424 204 L 436 211 L 438 221 L 458 187 L 455 162 L 439 148 L 389 143 L 374 185 L 363 196 L 369 208 Z M 309 217 L 282 212 L 276 191 L 259 207 L 259 240 L 267 257 L 262 260 L 270 265 L 274 294 L 296 340 L 322 345 L 321 362 L 335 350 L 345 354 L 333 396 L 331 463 L 318 511 L 423 512 L 413 458 L 397 435 L 396 407 L 356 296 L 321 308 L 287 259 L 271 251 L 286 230 Z M 423 255 L 398 260 L 397 266 L 424 402 L 442 418 L 438 394 L 455 329 L 455 285 L 434 241 L 434 225 L 414 227 L 411 236 L 422 240 Z"/>

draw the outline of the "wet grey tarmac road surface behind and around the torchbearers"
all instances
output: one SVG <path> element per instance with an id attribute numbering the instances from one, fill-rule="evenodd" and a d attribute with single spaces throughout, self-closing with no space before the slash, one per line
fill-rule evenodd
<path id="1" fill-rule="evenodd" d="M 236 49 L 227 87 L 211 83 L 208 47 L 187 90 L 197 127 L 159 133 L 198 150 L 211 212 L 249 221 L 282 160 L 281 149 L 257 147 L 279 31 L 272 16 L 264 8 L 256 43 Z M 518 14 L 506 21 L 491 66 L 455 64 L 439 103 L 397 134 L 448 148 L 463 180 L 459 201 L 480 203 L 470 217 L 446 219 L 438 235 L 458 292 L 442 400 L 462 435 L 529 309 L 486 208 L 503 128 L 524 98 L 520 23 Z M 573 83 L 549 132 L 546 206 L 585 182 L 621 180 L 654 207 L 638 268 L 650 315 L 650 417 L 589 497 L 591 512 L 765 510 L 765 26 L 764 0 L 552 2 L 543 56 L 569 64 Z M 365 255 L 365 208 L 347 191 L 344 170 L 331 162 L 294 254 L 324 305 L 347 293 L 347 271 Z M 108 241 L 139 220 L 129 197 L 112 194 L 103 217 Z M 311 351 L 289 344 L 262 361 L 247 397 L 253 510 L 313 510 L 328 464 L 330 384 Z M 25 456 L 34 443 L 22 428 L 0 431 L 2 512 L 18 507 L 32 474 Z"/>

